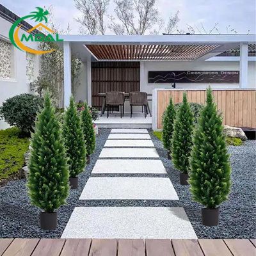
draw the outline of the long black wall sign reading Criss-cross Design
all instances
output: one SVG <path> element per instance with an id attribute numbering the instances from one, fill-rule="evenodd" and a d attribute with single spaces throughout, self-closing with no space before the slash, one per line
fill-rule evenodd
<path id="1" fill-rule="evenodd" d="M 239 71 L 148 71 L 148 83 L 239 83 Z"/>

